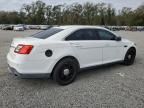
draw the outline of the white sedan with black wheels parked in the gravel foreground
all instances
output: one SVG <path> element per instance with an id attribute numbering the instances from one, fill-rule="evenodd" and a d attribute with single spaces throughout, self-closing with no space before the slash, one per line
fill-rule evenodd
<path id="1" fill-rule="evenodd" d="M 52 77 L 67 85 L 82 68 L 113 62 L 132 65 L 135 56 L 134 42 L 103 27 L 59 26 L 13 39 L 7 62 L 10 72 L 22 78 Z"/>

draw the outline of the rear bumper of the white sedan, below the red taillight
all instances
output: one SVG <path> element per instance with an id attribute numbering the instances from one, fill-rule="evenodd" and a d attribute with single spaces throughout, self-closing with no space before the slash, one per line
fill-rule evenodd
<path id="1" fill-rule="evenodd" d="M 38 76 L 45 77 L 52 73 L 54 67 L 53 60 L 29 60 L 23 57 L 12 57 L 7 55 L 9 70 L 17 76 Z"/>

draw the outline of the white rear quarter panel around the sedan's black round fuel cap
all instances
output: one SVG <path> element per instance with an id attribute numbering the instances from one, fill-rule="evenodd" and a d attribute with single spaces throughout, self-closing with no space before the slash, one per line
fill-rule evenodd
<path id="1" fill-rule="evenodd" d="M 51 57 L 47 57 L 45 52 L 51 50 L 53 52 Z M 66 56 L 73 56 L 77 58 L 77 55 L 74 53 L 72 47 L 68 42 L 57 41 L 57 42 L 43 42 L 39 44 L 30 55 L 33 60 L 40 61 L 44 63 L 44 70 L 49 73 L 52 72 L 56 63 Z"/>

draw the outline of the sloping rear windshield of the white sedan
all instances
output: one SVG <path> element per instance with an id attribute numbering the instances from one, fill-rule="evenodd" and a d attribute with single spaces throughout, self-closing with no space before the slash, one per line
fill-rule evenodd
<path id="1" fill-rule="evenodd" d="M 32 37 L 34 38 L 39 38 L 39 39 L 46 39 L 58 32 L 61 32 L 63 29 L 60 29 L 60 28 L 49 28 L 48 30 L 44 30 L 44 31 L 41 31 L 41 32 L 38 32 L 34 35 L 32 35 Z"/>

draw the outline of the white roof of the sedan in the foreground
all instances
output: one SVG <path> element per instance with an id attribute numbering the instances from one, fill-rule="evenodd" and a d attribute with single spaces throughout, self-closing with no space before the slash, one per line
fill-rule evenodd
<path id="1" fill-rule="evenodd" d="M 101 26 L 88 26 L 88 25 L 56 26 L 56 28 L 60 28 L 60 29 L 84 29 L 84 28 L 105 29 L 104 27 L 101 27 Z"/>

